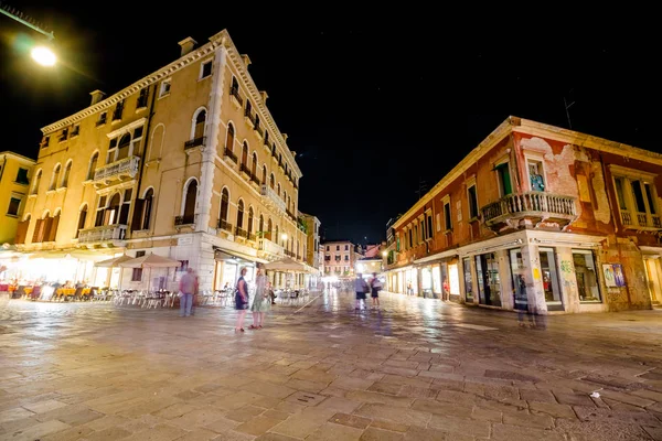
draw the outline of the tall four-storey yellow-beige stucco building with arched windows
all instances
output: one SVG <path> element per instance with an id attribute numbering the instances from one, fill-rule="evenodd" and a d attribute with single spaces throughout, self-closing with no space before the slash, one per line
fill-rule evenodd
<path id="1" fill-rule="evenodd" d="M 256 262 L 303 261 L 301 171 L 248 56 L 226 31 L 200 47 L 191 37 L 179 44 L 169 65 L 109 97 L 95 90 L 89 107 L 42 129 L 20 247 L 51 260 L 33 278 L 62 279 L 66 268 L 67 279 L 146 288 L 141 271 L 120 280 L 94 261 L 154 252 L 216 289 L 234 284 L 242 266 L 252 277 Z M 178 275 L 157 271 L 151 288 Z"/>

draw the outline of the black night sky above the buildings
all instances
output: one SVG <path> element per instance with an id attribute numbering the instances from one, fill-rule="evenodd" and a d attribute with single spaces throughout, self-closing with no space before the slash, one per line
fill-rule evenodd
<path id="1" fill-rule="evenodd" d="M 89 92 L 114 94 L 175 60 L 180 40 L 203 44 L 227 29 L 297 152 L 299 207 L 329 239 L 383 239 L 419 181 L 431 187 L 509 115 L 568 127 L 564 96 L 575 103 L 573 129 L 662 150 L 662 39 L 642 21 L 652 12 L 49 3 L 11 6 L 55 32 L 63 63 L 52 69 L 19 50 L 20 39 L 39 35 L 0 15 L 0 150 L 35 157 L 39 129 L 86 107 Z"/>

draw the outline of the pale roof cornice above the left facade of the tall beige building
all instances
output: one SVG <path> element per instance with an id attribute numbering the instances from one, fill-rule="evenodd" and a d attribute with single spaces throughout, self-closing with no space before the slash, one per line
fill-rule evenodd
<path id="1" fill-rule="evenodd" d="M 186 55 L 181 56 L 180 58 L 175 60 L 174 62 L 170 63 L 169 65 L 161 67 L 159 71 L 156 71 L 156 72 L 149 74 L 148 76 L 140 78 L 139 80 L 131 84 L 130 86 L 125 87 L 124 89 L 119 90 L 117 94 L 111 95 L 108 98 L 106 98 L 95 105 L 92 105 L 70 117 L 66 117 L 64 119 L 61 119 L 56 122 L 53 122 L 49 126 L 43 127 L 41 129 L 42 133 L 49 135 L 53 131 L 63 129 L 75 122 L 78 122 L 78 121 L 87 118 L 90 115 L 106 110 L 106 109 L 110 108 L 111 106 L 114 106 L 115 104 L 121 101 L 122 99 L 136 94 L 141 88 L 151 86 L 152 84 L 154 84 L 163 78 L 169 77 L 170 75 L 174 74 L 175 72 L 181 71 L 182 68 L 184 68 L 188 65 L 190 65 L 191 63 L 194 63 L 195 61 L 202 58 L 203 56 L 207 56 L 216 47 L 218 47 L 218 45 L 223 44 L 223 35 L 221 35 L 221 34 L 223 34 L 224 32 L 225 31 L 222 31 L 218 34 L 212 36 L 210 39 L 210 43 L 206 43 L 204 46 L 201 46 L 200 49 L 197 49 L 195 51 L 191 51 Z"/>

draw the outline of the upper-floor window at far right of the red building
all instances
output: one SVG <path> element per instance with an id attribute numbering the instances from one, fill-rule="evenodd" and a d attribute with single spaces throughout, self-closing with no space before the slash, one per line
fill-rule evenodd
<path id="1" fill-rule="evenodd" d="M 621 224 L 627 228 L 662 228 L 655 191 L 655 175 L 618 165 L 609 165 L 613 174 L 616 198 Z"/>

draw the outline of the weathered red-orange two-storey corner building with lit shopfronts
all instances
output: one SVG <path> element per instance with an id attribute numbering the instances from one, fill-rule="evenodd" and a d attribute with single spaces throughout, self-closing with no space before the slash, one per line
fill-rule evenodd
<path id="1" fill-rule="evenodd" d="M 650 309 L 661 174 L 661 154 L 510 117 L 387 225 L 388 289 L 543 314 Z"/>

